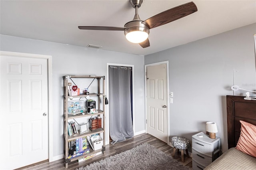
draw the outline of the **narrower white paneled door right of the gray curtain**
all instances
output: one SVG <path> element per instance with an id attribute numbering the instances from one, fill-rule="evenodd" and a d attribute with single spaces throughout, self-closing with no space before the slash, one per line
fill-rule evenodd
<path id="1" fill-rule="evenodd" d="M 166 63 L 146 67 L 147 132 L 168 142 Z"/>

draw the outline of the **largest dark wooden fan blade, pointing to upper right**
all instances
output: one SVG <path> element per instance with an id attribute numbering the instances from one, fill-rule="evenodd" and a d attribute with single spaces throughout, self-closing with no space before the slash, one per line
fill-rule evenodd
<path id="1" fill-rule="evenodd" d="M 176 6 L 169 10 L 156 14 L 155 16 L 152 16 L 151 18 L 148 18 L 147 20 L 142 22 L 142 24 L 145 24 L 146 26 L 148 26 L 149 29 L 151 29 L 178 20 L 196 11 L 197 8 L 194 2 L 188 2 L 186 4 L 182 4 L 180 6 Z"/>

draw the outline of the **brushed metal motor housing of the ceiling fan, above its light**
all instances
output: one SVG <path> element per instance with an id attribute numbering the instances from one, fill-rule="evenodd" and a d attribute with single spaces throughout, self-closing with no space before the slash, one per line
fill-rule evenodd
<path id="1" fill-rule="evenodd" d="M 142 31 L 142 32 L 146 32 L 149 34 L 149 28 L 145 25 L 142 24 L 141 22 L 143 21 L 130 21 L 127 22 L 124 25 L 124 28 L 126 28 L 124 30 L 124 35 L 126 36 L 126 34 L 128 34 L 129 32 L 133 32 L 133 31 Z"/>

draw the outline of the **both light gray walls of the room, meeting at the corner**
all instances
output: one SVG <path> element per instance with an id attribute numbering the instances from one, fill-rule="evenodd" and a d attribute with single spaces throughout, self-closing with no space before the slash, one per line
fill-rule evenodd
<path id="1" fill-rule="evenodd" d="M 106 63 L 134 65 L 135 132 L 140 132 L 145 130 L 145 111 L 141 107 L 144 106 L 144 62 L 166 60 L 169 61 L 169 89 L 174 92 L 174 103 L 169 107 L 170 135 L 183 135 L 191 140 L 196 132 L 205 132 L 206 121 L 214 121 L 225 151 L 228 147 L 225 96 L 245 94 L 233 93 L 230 90 L 233 84 L 256 90 L 253 34 L 256 24 L 145 57 L 5 35 L 0 35 L 0 50 L 52 55 L 52 89 L 56 94 L 53 95 L 53 156 L 63 154 L 63 75 L 106 75 Z M 79 61 L 72 69 L 67 67 L 71 58 Z M 84 63 L 88 63 L 86 67 Z"/>

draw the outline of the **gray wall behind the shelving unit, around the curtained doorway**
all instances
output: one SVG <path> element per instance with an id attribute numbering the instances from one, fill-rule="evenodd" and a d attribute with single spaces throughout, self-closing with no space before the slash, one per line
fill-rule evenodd
<path id="1" fill-rule="evenodd" d="M 0 50 L 52 55 L 53 156 L 63 155 L 64 75 L 107 75 L 107 63 L 134 65 L 135 132 L 145 130 L 144 56 L 0 35 Z M 74 62 L 74 67 L 70 63 Z"/>

